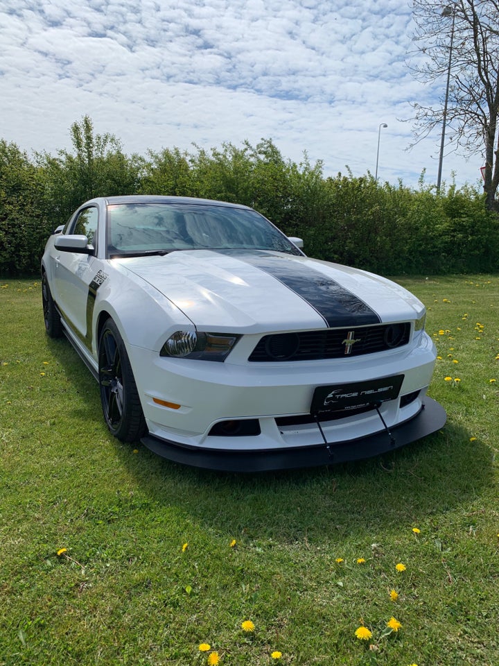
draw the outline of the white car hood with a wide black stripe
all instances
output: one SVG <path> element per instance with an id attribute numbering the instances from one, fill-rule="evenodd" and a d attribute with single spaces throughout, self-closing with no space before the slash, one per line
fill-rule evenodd
<path id="1" fill-rule="evenodd" d="M 187 250 L 115 259 L 200 330 L 268 332 L 407 321 L 423 305 L 356 268 L 264 250 Z"/>

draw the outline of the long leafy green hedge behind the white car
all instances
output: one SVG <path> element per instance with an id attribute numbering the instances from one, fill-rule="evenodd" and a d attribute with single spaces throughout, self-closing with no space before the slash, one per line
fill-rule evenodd
<path id="1" fill-rule="evenodd" d="M 499 221 L 473 187 L 419 189 L 369 174 L 324 178 L 306 155 L 285 160 L 268 139 L 210 152 L 178 148 L 128 157 L 84 117 L 73 152 L 33 158 L 0 140 L 0 275 L 37 273 L 46 239 L 93 196 L 172 194 L 250 205 L 308 255 L 385 275 L 499 270 Z"/>

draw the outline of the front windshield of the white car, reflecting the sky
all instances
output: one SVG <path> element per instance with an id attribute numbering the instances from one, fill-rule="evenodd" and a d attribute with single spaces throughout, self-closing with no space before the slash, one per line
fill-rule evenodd
<path id="1" fill-rule="evenodd" d="M 254 210 L 190 203 L 127 203 L 107 208 L 110 257 L 206 248 L 301 254 Z"/>

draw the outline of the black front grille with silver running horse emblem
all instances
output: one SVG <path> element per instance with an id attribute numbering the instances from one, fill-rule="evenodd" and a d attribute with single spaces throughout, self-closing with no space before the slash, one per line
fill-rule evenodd
<path id="1" fill-rule="evenodd" d="M 375 354 L 408 344 L 410 322 L 265 335 L 249 361 L 315 361 Z"/>

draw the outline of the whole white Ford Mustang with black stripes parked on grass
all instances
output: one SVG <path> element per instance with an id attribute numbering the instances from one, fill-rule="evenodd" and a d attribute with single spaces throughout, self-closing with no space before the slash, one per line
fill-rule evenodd
<path id="1" fill-rule="evenodd" d="M 194 466 L 355 460 L 441 428 L 423 304 L 301 246 L 242 205 L 92 199 L 46 244 L 46 332 L 98 379 L 112 434 Z"/>

